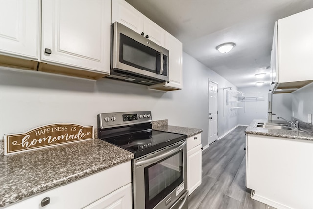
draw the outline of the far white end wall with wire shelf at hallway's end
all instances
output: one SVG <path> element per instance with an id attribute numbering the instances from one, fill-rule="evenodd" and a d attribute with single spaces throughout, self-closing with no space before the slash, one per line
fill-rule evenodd
<path id="1" fill-rule="evenodd" d="M 243 108 L 237 110 L 238 123 L 240 125 L 249 125 L 254 119 L 267 119 L 269 85 L 240 88 L 238 90 L 246 93 L 246 97 L 264 97 L 263 101 L 246 101 L 240 103 L 238 106 L 242 106 Z"/>

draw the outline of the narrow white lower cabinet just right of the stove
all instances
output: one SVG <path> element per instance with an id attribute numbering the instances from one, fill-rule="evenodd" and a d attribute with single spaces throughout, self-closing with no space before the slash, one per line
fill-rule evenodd
<path id="1" fill-rule="evenodd" d="M 201 134 L 187 138 L 187 187 L 189 195 L 202 183 Z"/>

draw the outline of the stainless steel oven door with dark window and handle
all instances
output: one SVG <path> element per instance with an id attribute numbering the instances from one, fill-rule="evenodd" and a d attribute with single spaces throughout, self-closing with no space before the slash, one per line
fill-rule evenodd
<path id="1" fill-rule="evenodd" d="M 186 140 L 133 161 L 134 209 L 169 209 L 187 190 Z"/>

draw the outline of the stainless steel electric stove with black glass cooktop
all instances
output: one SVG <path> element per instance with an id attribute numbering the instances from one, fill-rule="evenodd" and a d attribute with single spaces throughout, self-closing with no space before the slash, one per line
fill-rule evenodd
<path id="1" fill-rule="evenodd" d="M 151 122 L 150 111 L 101 113 L 98 138 L 134 153 L 134 209 L 188 209 L 187 136 Z"/>

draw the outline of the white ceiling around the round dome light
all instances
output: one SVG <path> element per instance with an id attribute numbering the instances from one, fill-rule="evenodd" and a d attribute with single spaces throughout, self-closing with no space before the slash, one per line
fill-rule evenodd
<path id="1" fill-rule="evenodd" d="M 235 86 L 270 82 L 274 23 L 313 8 L 313 0 L 126 0 L 183 43 L 183 50 Z M 227 54 L 215 48 L 236 46 Z M 192 69 L 190 69 L 192 70 Z"/>

